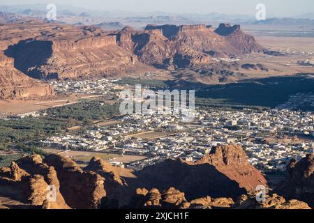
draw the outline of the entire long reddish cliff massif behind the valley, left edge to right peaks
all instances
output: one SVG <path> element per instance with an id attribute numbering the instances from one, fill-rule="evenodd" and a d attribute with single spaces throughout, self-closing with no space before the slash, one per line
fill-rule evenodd
<path id="1" fill-rule="evenodd" d="M 105 32 L 95 26 L 20 22 L 1 25 L 0 47 L 33 78 L 88 78 L 137 68 L 192 68 L 261 49 L 239 26 L 148 25 Z"/>

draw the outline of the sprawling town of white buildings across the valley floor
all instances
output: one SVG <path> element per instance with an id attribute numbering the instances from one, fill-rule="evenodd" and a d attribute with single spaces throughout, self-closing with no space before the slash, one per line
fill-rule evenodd
<path id="1" fill-rule="evenodd" d="M 180 115 L 127 115 L 112 125 L 49 137 L 41 143 L 60 150 L 142 155 L 143 160 L 121 164 L 136 170 L 167 159 L 195 162 L 213 146 L 237 144 L 243 146 L 251 164 L 267 172 L 284 171 L 292 157 L 313 153 L 313 137 L 311 112 L 197 109 L 191 123 L 182 123 Z"/>

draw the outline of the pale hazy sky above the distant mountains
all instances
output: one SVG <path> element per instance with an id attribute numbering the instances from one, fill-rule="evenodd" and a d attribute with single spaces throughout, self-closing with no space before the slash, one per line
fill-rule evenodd
<path id="1" fill-rule="evenodd" d="M 96 10 L 168 13 L 227 13 L 255 15 L 257 3 L 264 3 L 269 15 L 293 16 L 314 13 L 314 0 L 1 0 L 0 4 L 55 3 Z"/>

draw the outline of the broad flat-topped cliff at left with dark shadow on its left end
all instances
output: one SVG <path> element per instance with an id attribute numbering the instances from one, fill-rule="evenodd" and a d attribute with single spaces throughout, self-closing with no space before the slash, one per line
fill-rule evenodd
<path id="1" fill-rule="evenodd" d="M 31 26 L 33 36 L 10 45 L 5 53 L 15 59 L 15 68 L 30 77 L 65 79 L 105 75 L 137 63 L 132 52 L 117 45 L 116 36 L 95 27 L 27 25 Z M 36 36 L 38 29 L 44 31 Z"/>

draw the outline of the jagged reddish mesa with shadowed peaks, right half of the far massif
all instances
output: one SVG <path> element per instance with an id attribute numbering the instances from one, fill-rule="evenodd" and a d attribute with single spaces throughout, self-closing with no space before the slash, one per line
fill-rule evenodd
<path id="1" fill-rule="evenodd" d="M 211 26 L 204 24 L 148 25 L 145 30 L 160 30 L 166 39 L 149 40 L 149 47 L 143 47 L 140 52 L 146 56 L 140 59 L 144 63 L 149 62 L 159 67 L 189 68 L 211 63 L 211 56 L 239 56 L 262 49 L 255 39 L 241 31 L 239 26 L 230 29 L 228 27 L 220 25 L 220 28 L 213 31 Z"/>

